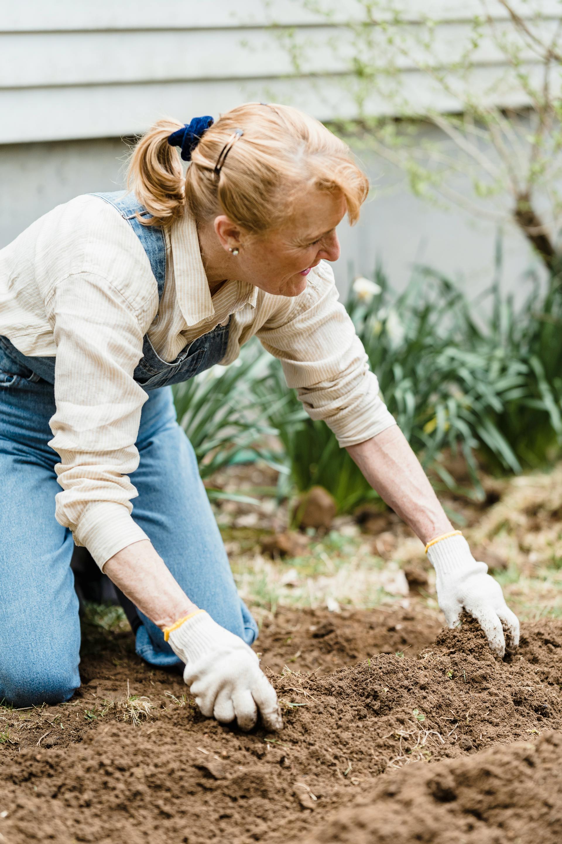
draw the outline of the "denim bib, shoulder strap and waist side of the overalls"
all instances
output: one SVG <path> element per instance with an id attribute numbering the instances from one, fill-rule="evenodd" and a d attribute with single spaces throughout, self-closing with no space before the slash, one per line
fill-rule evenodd
<path id="1" fill-rule="evenodd" d="M 123 219 L 131 226 L 142 248 L 147 253 L 154 278 L 158 283 L 158 301 L 162 299 L 164 280 L 166 278 L 166 242 L 163 231 L 154 226 L 142 225 L 136 214 L 141 214 L 147 219 L 151 214 L 138 202 L 131 193 L 116 191 L 114 193 L 94 193 L 94 196 L 104 199 L 119 212 Z M 158 316 L 156 317 L 158 319 Z M 212 331 L 197 338 L 185 349 L 179 352 L 177 358 L 171 363 L 158 357 L 153 349 L 153 344 L 145 334 L 142 343 L 142 359 L 139 361 L 134 372 L 135 381 L 144 387 L 145 390 L 153 390 L 155 387 L 167 387 L 169 384 L 178 384 L 180 381 L 189 381 L 197 375 L 222 360 L 227 353 L 228 324 L 217 325 Z M 32 373 L 30 380 L 43 378 L 50 384 L 55 383 L 55 358 L 54 357 L 29 357 L 22 354 L 19 349 L 8 340 L 7 337 L 0 337 L 0 345 L 14 360 L 26 366 Z"/>

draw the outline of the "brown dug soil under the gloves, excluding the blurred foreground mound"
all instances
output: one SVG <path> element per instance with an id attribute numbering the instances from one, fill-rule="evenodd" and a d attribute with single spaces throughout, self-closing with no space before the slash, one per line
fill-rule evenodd
<path id="1" fill-rule="evenodd" d="M 431 765 L 400 776 L 430 776 L 444 758 L 479 760 L 481 749 L 562 729 L 562 624 L 523 631 L 504 663 L 468 624 L 442 632 L 419 658 L 380 654 L 335 674 L 271 674 L 286 721 L 277 735 L 206 721 L 179 677 L 119 649 L 90 657 L 82 696 L 32 713 L 13 733 L 18 744 L 3 745 L 0 834 L 8 844 L 302 841 L 384 771 L 420 760 Z M 135 695 L 153 706 L 137 726 Z"/>

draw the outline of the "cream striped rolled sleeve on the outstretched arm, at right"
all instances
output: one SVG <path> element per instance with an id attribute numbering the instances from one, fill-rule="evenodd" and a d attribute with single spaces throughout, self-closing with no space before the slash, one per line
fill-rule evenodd
<path id="1" fill-rule="evenodd" d="M 334 274 L 321 262 L 304 294 L 258 332 L 261 344 L 281 360 L 312 419 L 324 419 L 340 446 L 353 446 L 396 425 L 379 396 L 377 376 L 345 307 Z"/>

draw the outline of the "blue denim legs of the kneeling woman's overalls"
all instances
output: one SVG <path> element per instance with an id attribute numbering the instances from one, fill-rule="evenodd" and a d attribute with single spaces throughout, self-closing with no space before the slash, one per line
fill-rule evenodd
<path id="1" fill-rule="evenodd" d="M 78 689 L 80 625 L 72 533 L 55 519 L 54 389 L 17 369 L 0 349 L 0 701 L 30 706 L 67 701 Z M 191 600 L 251 644 L 258 628 L 238 597 L 171 388 L 149 396 L 133 517 Z M 179 664 L 162 631 L 139 616 L 136 653 L 152 665 Z"/>

